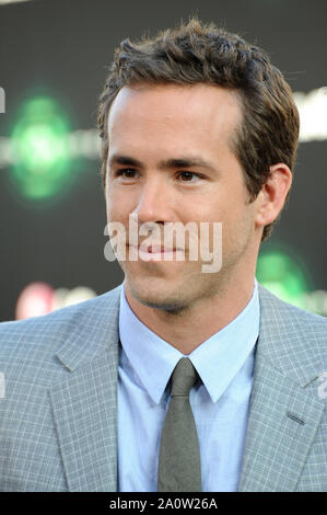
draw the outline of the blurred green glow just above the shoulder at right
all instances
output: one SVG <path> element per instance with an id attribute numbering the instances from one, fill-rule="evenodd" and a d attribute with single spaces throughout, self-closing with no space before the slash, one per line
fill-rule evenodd
<path id="1" fill-rule="evenodd" d="M 256 277 L 277 297 L 305 308 L 304 295 L 310 279 L 300 263 L 285 252 L 272 250 L 259 254 Z"/>

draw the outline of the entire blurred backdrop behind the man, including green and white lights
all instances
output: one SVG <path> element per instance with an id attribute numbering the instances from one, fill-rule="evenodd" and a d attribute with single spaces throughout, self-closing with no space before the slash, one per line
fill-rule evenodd
<path id="1" fill-rule="evenodd" d="M 121 39 L 197 14 L 262 46 L 300 110 L 294 183 L 257 278 L 327 316 L 325 0 L 0 0 L 0 320 L 101 295 L 108 262 L 97 99 Z"/>

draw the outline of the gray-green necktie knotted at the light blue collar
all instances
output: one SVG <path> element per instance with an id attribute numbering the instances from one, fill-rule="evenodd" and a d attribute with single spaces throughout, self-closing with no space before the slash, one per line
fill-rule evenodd
<path id="1" fill-rule="evenodd" d="M 172 399 L 161 436 L 159 492 L 200 492 L 201 464 L 189 391 L 197 371 L 188 357 L 177 363 L 172 374 Z"/>

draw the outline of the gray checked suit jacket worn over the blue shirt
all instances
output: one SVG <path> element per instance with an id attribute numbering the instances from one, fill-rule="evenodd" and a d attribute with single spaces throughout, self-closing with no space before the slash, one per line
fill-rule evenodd
<path id="1" fill-rule="evenodd" d="M 0 324 L 0 490 L 117 490 L 120 287 Z M 327 491 L 327 320 L 259 287 L 240 491 Z"/>

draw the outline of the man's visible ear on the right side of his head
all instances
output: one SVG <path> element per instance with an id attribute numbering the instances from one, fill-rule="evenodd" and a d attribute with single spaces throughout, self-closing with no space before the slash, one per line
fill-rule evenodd
<path id="1" fill-rule="evenodd" d="M 292 172 L 287 164 L 270 167 L 269 178 L 257 197 L 257 227 L 265 227 L 276 220 L 283 208 L 291 184 Z"/>

